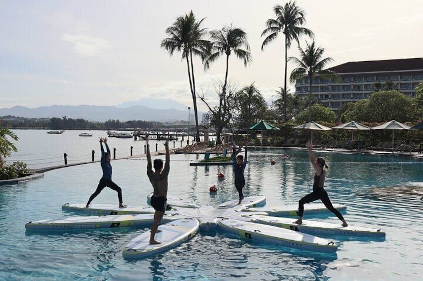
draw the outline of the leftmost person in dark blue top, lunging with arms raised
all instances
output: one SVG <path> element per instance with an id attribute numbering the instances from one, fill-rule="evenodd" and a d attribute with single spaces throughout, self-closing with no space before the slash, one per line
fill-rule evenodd
<path id="1" fill-rule="evenodd" d="M 102 143 L 106 145 L 107 152 L 104 152 L 104 148 Z M 97 197 L 98 194 L 104 189 L 104 187 L 109 187 L 112 190 L 118 192 L 118 199 L 119 199 L 119 208 L 125 208 L 126 206 L 122 203 L 122 189 L 116 185 L 112 181 L 112 165 L 110 164 L 110 149 L 107 145 L 107 138 L 100 138 L 100 148 L 101 148 L 101 169 L 103 170 L 103 177 L 101 177 L 100 182 L 98 183 L 97 189 L 91 195 L 90 199 L 88 200 L 86 208 L 89 207 L 92 200 Z"/>

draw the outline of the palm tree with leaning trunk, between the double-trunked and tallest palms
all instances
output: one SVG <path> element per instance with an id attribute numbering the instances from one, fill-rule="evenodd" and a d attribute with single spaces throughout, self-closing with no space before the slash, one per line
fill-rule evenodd
<path id="1" fill-rule="evenodd" d="M 246 67 L 251 63 L 250 46 L 247 41 L 247 34 L 237 27 L 224 26 L 220 30 L 212 30 L 210 32 L 210 38 L 212 41 L 212 51 L 209 57 L 206 59 L 204 68 L 208 69 L 210 64 L 216 61 L 220 56 L 226 55 L 226 72 L 225 79 L 222 87 L 222 94 L 220 97 L 220 104 L 217 112 L 217 116 L 222 116 L 221 112 L 226 105 L 226 91 L 229 75 L 229 56 L 233 53 L 239 59 L 244 62 Z M 219 136 L 223 128 L 216 128 L 216 139 L 219 141 Z"/>

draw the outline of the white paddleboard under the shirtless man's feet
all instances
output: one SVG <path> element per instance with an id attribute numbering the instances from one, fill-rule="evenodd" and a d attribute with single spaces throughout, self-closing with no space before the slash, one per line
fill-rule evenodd
<path id="1" fill-rule="evenodd" d="M 150 245 L 150 231 L 147 231 L 126 244 L 122 256 L 125 259 L 141 259 L 174 248 L 197 233 L 199 222 L 193 218 L 178 219 L 159 225 L 158 229 L 161 232 L 156 233 L 155 240 L 160 244 Z"/>

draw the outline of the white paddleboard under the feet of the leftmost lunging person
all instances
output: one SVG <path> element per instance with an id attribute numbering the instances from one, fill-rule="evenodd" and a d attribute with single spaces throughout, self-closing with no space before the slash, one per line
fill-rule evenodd
<path id="1" fill-rule="evenodd" d="M 119 208 L 117 204 L 90 204 L 89 208 L 86 208 L 85 205 L 66 203 L 62 206 L 62 210 L 91 215 L 151 214 L 155 212 L 152 207 L 126 206 L 126 208 Z"/>

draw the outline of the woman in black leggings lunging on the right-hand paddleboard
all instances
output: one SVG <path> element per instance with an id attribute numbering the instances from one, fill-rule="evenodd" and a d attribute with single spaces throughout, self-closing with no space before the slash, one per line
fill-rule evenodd
<path id="1" fill-rule="evenodd" d="M 341 213 L 332 206 L 332 203 L 329 200 L 328 193 L 323 188 L 323 185 L 325 183 L 325 175 L 326 175 L 326 170 L 324 168 L 326 169 L 328 168 L 328 165 L 326 165 L 325 159 L 323 157 L 316 158 L 314 156 L 312 151 L 313 145 L 310 142 L 307 142 L 306 146 L 308 150 L 308 157 L 310 158 L 310 161 L 314 167 L 314 170 L 316 170 L 316 174 L 314 174 L 313 192 L 301 198 L 298 205 L 298 220 L 296 220 L 294 223 L 302 224 L 302 218 L 304 214 L 304 204 L 320 199 L 325 205 L 325 207 L 328 210 L 330 210 L 332 213 L 334 213 L 337 216 L 337 218 L 339 218 L 342 221 L 342 226 L 344 227 L 348 226 L 347 222 L 345 221 Z"/>

